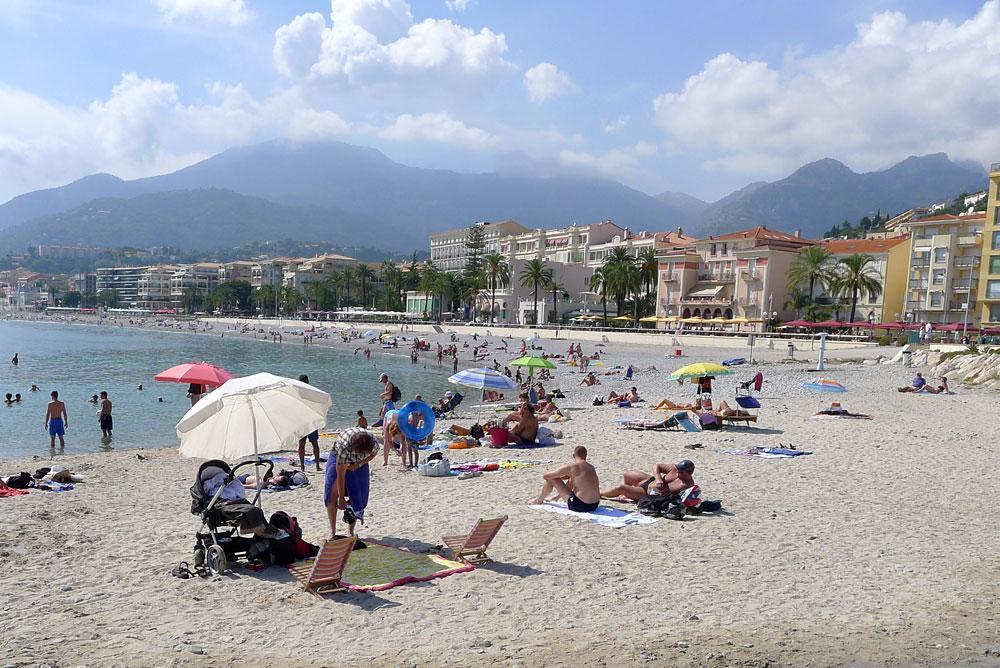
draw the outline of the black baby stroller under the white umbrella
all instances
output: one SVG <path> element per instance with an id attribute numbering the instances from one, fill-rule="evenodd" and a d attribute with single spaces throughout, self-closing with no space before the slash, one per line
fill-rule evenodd
<path id="1" fill-rule="evenodd" d="M 263 479 L 271 477 L 274 470 L 274 462 L 249 460 L 237 464 L 230 468 L 229 464 L 220 459 L 210 459 L 198 467 L 198 475 L 195 476 L 194 484 L 191 486 L 191 514 L 201 516 L 201 528 L 195 533 L 194 563 L 195 567 L 205 566 L 214 573 L 225 573 L 231 561 L 236 561 L 239 557 L 247 557 L 252 553 L 255 544 L 253 537 L 243 537 L 237 535 L 240 525 L 240 518 L 231 513 L 224 514 L 219 506 L 219 497 L 226 485 L 236 478 L 236 472 L 246 466 L 266 466 L 267 471 Z M 205 493 L 205 485 L 220 473 L 226 475 L 225 482 L 214 495 Z M 260 492 L 254 495 L 251 502 L 254 506 L 260 506 Z"/>

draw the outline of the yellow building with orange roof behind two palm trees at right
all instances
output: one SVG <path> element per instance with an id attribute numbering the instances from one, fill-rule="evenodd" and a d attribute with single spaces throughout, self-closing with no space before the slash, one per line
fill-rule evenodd
<path id="1" fill-rule="evenodd" d="M 877 295 L 858 295 L 855 317 L 869 322 L 894 322 L 904 311 L 907 274 L 910 266 L 910 238 L 897 236 L 877 239 L 834 239 L 821 244 L 833 255 L 834 260 L 842 260 L 862 253 L 872 257 L 873 274 L 878 275 L 882 292 Z M 825 296 L 825 295 L 824 295 Z M 841 295 L 828 297 L 849 304 L 850 298 Z M 850 309 L 850 306 L 847 307 Z M 842 314 L 847 314 L 844 310 Z M 846 315 L 845 315 L 846 317 Z"/>

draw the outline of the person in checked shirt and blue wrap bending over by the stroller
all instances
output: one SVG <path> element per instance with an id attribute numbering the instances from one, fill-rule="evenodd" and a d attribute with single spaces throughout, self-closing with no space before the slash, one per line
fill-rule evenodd
<path id="1" fill-rule="evenodd" d="M 349 535 L 358 520 L 364 523 L 371 476 L 368 462 L 378 454 L 378 441 L 365 429 L 347 429 L 330 449 L 326 460 L 323 505 L 330 521 L 330 537 L 337 535 L 337 511 L 344 511 Z"/>

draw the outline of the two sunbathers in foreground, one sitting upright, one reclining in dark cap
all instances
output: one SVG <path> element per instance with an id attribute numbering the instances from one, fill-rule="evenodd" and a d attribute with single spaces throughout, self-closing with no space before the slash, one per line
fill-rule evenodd
<path id="1" fill-rule="evenodd" d="M 574 512 L 590 513 L 597 510 L 602 498 L 625 496 L 638 501 L 650 494 L 650 485 L 653 494 L 679 494 L 694 485 L 693 472 L 694 463 L 688 459 L 676 465 L 654 464 L 652 474 L 625 471 L 621 485 L 602 492 L 597 470 L 587 461 L 587 448 L 578 445 L 573 449 L 573 463 L 543 474 L 542 491 L 528 503 L 539 505 L 560 499 Z"/>

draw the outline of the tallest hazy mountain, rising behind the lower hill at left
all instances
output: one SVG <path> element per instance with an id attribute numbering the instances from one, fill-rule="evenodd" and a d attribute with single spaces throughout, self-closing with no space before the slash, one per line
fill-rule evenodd
<path id="1" fill-rule="evenodd" d="M 84 187 L 102 185 L 104 191 Z M 83 179 L 65 188 L 29 193 L 0 206 L 0 227 L 98 197 L 203 188 L 292 207 L 336 210 L 337 219 L 356 214 L 370 229 L 380 231 L 383 247 L 392 250 L 424 247 L 429 234 L 477 220 L 513 218 L 529 227 L 555 227 L 610 218 L 622 226 L 650 230 L 692 220 L 686 210 L 614 181 L 460 174 L 407 167 L 375 149 L 339 142 L 275 141 L 224 151 L 163 176 L 127 182 L 114 177 Z M 187 224 L 180 215 L 173 220 L 161 215 L 159 222 L 162 229 Z M 305 233 L 290 228 L 280 236 L 300 238 Z"/>

